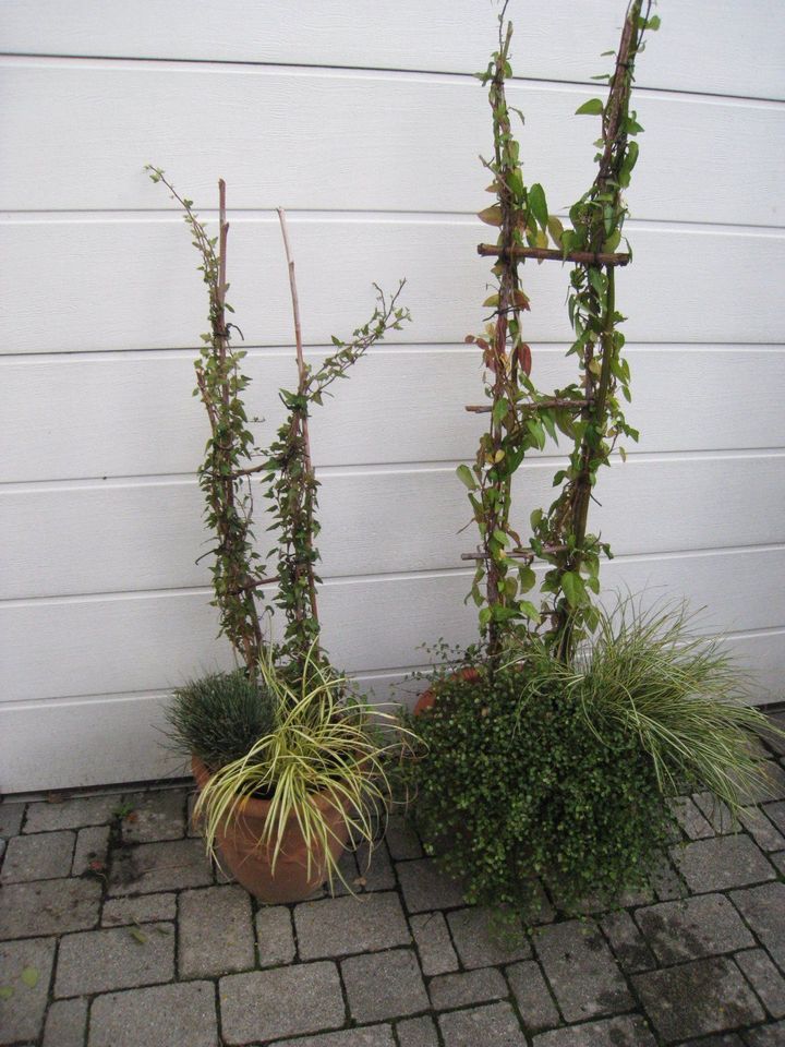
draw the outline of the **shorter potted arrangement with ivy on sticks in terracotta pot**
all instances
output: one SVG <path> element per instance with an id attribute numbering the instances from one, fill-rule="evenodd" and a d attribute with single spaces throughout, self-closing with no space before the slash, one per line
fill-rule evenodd
<path id="1" fill-rule="evenodd" d="M 253 461 L 243 393 L 245 356 L 230 338 L 228 316 L 226 188 L 219 182 L 219 231 L 210 238 L 159 168 L 148 167 L 183 208 L 208 290 L 209 332 L 196 360 L 196 390 L 210 435 L 200 484 L 205 521 L 214 535 L 212 575 L 220 633 L 240 667 L 179 688 L 169 709 L 173 742 L 192 758 L 200 795 L 194 816 L 208 853 L 264 902 L 295 901 L 340 876 L 350 835 L 373 846 L 376 819 L 389 798 L 387 762 L 404 744 L 397 721 L 352 694 L 321 643 L 316 575 L 318 482 L 311 460 L 309 414 L 329 387 L 408 312 L 377 288 L 370 321 L 318 366 L 306 363 L 300 329 L 294 263 L 286 216 L 279 219 L 294 314 L 298 383 L 280 390 L 286 418 L 275 441 Z M 252 478 L 271 503 L 275 577 L 264 577 L 252 529 Z M 264 590 L 285 627 L 277 642 L 264 635 Z M 383 732 L 383 729 L 384 732 Z"/>

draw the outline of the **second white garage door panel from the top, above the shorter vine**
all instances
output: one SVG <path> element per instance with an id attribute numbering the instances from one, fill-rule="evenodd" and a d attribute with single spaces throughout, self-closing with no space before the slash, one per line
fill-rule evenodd
<path id="1" fill-rule="evenodd" d="M 597 89 L 508 88 L 526 113 L 527 178 L 554 209 L 594 177 L 600 124 L 575 111 Z M 470 79 L 5 59 L 0 92 L 14 158 L 0 210 L 177 206 L 143 174 L 148 161 L 197 208 L 215 207 L 219 177 L 233 208 L 472 214 L 487 203 L 487 97 Z M 645 92 L 633 105 L 647 129 L 629 190 L 637 218 L 782 225 L 782 106 Z"/>

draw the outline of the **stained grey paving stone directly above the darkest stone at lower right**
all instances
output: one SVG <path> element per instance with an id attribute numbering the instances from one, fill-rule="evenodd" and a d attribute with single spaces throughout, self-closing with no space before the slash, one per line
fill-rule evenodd
<path id="1" fill-rule="evenodd" d="M 752 936 L 724 894 L 700 894 L 639 908 L 636 919 L 662 963 L 700 960 L 754 946 Z"/>

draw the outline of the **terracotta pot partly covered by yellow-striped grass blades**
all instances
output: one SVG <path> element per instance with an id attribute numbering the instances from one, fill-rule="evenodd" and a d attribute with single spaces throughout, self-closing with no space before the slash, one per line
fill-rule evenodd
<path id="1" fill-rule="evenodd" d="M 198 757 L 192 756 L 191 768 L 201 789 L 209 779 L 209 771 Z M 329 852 L 337 858 L 349 840 L 349 827 L 345 813 L 324 795 L 314 797 L 324 813 L 334 837 Z M 271 869 L 271 846 L 259 843 L 269 813 L 269 801 L 251 797 L 242 810 L 228 821 L 216 834 L 221 858 L 234 878 L 259 901 L 268 904 L 301 902 L 317 891 L 327 879 L 327 853 L 322 846 L 311 849 L 309 875 L 309 847 L 303 839 L 297 818 L 287 822 L 275 874 Z"/>

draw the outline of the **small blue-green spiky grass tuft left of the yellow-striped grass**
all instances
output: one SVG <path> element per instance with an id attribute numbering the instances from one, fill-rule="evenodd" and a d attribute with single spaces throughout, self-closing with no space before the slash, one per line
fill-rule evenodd
<path id="1" fill-rule="evenodd" d="M 273 730 L 275 699 L 244 669 L 178 687 L 166 711 L 172 747 L 215 769 L 239 760 Z"/>

